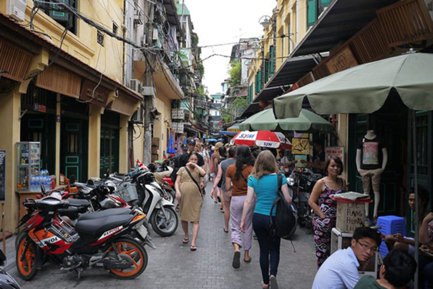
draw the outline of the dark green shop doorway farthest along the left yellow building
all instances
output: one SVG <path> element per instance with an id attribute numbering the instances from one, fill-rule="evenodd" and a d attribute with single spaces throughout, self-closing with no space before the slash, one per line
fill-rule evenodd
<path id="1" fill-rule="evenodd" d="M 100 177 L 119 172 L 119 114 L 105 110 L 101 115 Z"/>

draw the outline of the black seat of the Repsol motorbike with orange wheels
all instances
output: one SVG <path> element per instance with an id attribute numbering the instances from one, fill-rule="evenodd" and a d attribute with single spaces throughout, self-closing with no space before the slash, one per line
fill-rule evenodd
<path id="1" fill-rule="evenodd" d="M 128 224 L 134 218 L 133 215 L 111 215 L 107 218 L 99 218 L 92 220 L 79 220 L 75 224 L 75 231 L 81 237 L 97 237 L 105 231 L 115 227 Z"/>

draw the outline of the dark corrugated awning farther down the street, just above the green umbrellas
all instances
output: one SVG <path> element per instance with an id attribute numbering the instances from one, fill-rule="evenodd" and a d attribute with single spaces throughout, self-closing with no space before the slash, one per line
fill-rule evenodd
<path id="1" fill-rule="evenodd" d="M 313 55 L 288 58 L 268 81 L 265 88 L 257 94 L 257 97 L 255 97 L 240 118 L 250 117 L 260 111 L 259 101 L 270 101 L 284 94 L 291 84 L 294 84 L 310 72 L 317 64 L 319 64 L 319 60 Z"/>

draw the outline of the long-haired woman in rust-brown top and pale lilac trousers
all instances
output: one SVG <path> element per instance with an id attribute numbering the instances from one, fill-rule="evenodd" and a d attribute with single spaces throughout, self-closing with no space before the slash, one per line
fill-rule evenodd
<path id="1" fill-rule="evenodd" d="M 232 188 L 232 199 L 230 201 L 230 227 L 232 229 L 232 244 L 235 249 L 233 255 L 233 268 L 239 268 L 240 266 L 240 248 L 244 249 L 244 261 L 246 263 L 251 262 L 249 257 L 249 250 L 251 249 L 252 243 L 252 211 L 254 205 L 251 206 L 250 210 L 245 219 L 245 232 L 241 232 L 241 219 L 242 211 L 244 207 L 244 201 L 246 199 L 248 178 L 252 172 L 254 166 L 254 157 L 252 156 L 248 146 L 238 146 L 236 149 L 236 162 L 230 165 L 226 171 L 226 191 Z M 254 203 L 254 202 L 253 202 Z"/>

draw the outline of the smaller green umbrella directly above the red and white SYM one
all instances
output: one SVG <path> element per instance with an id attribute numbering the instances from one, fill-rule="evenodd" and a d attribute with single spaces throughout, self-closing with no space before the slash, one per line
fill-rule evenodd
<path id="1" fill-rule="evenodd" d="M 275 120 L 271 109 L 263 110 L 239 123 L 241 130 L 296 130 L 311 133 L 314 131 L 332 132 L 332 124 L 317 114 L 302 109 L 298 117 Z"/>

